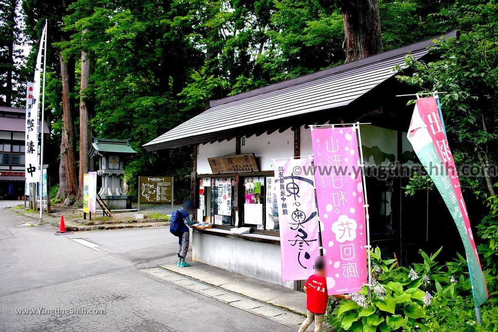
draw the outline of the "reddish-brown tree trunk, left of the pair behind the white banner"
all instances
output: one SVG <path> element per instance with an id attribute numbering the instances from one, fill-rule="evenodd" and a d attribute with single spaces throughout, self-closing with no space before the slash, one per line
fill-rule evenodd
<path id="1" fill-rule="evenodd" d="M 78 181 L 76 178 L 76 159 L 75 159 L 75 141 L 74 141 L 74 121 L 73 111 L 71 110 L 70 87 L 69 87 L 69 66 L 64 60 L 62 54 L 59 56 L 61 64 L 61 81 L 62 81 L 62 120 L 63 120 L 63 135 L 61 141 L 61 163 L 64 163 L 66 170 L 66 197 L 74 202 L 74 197 L 78 193 Z M 73 69 L 74 71 L 74 69 Z"/>

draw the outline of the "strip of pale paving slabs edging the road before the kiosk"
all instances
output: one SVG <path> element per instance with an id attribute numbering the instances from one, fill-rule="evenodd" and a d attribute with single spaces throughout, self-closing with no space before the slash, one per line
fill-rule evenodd
<path id="1" fill-rule="evenodd" d="M 187 268 L 184 269 L 187 270 Z M 294 328 L 296 330 L 303 321 L 303 317 L 301 315 L 291 313 L 285 309 L 278 308 L 273 305 L 265 304 L 264 301 L 257 301 L 255 299 L 250 299 L 247 296 L 227 291 L 213 284 L 208 284 L 200 280 L 194 280 L 191 277 L 180 275 L 161 267 L 143 269 L 141 271 L 151 274 L 159 279 L 189 289 L 193 292 L 216 299 L 228 304 L 229 306 L 242 309 L 254 315 L 264 317 L 268 320 L 288 326 L 290 328 Z"/>

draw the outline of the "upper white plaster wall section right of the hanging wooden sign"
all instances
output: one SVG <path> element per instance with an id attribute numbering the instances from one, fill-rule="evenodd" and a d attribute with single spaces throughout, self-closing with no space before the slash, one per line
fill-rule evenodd
<path id="1" fill-rule="evenodd" d="M 282 133 L 246 137 L 245 144 L 241 142 L 241 153 L 254 153 L 261 171 L 273 171 L 272 158 L 294 155 L 294 132 L 289 128 Z"/>

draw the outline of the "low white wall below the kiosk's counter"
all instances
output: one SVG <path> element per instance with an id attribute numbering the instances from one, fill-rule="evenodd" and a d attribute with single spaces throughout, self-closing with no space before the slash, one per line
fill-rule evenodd
<path id="1" fill-rule="evenodd" d="M 280 246 L 205 233 L 193 233 L 192 257 L 196 262 L 236 272 L 250 278 L 293 288 L 283 282 Z"/>

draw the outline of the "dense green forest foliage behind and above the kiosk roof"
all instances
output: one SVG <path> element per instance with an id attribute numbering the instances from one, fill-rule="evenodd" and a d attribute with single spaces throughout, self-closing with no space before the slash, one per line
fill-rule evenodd
<path id="1" fill-rule="evenodd" d="M 448 30 L 450 21 L 433 16 L 448 2 L 381 0 L 384 48 Z M 71 91 L 76 127 L 81 51 L 93 59 L 85 91 L 94 109 L 92 132 L 95 137 L 129 138 L 139 151 L 127 168 L 131 189 L 138 174 L 188 178 L 189 148 L 147 153 L 141 145 L 204 111 L 208 100 L 345 59 L 340 1 L 22 0 L 22 8 L 25 34 L 33 42 L 27 68 L 32 68 L 45 18 L 49 24 L 47 107 L 54 155 L 46 159 L 54 160 L 53 179 L 62 129 L 60 52 L 76 62 Z M 186 182 L 175 186 L 183 187 Z"/>

